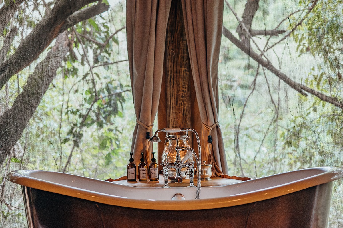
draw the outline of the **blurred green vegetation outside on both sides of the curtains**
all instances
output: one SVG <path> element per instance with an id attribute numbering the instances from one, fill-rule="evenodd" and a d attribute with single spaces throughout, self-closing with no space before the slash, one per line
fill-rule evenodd
<path id="1" fill-rule="evenodd" d="M 0 7 L 9 1 L 0 1 Z M 241 18 L 246 2 L 224 3 L 223 25 L 238 39 L 235 15 Z M 68 29 L 69 51 L 1 166 L 2 227 L 27 227 L 20 187 L 5 180 L 12 170 L 52 170 L 103 180 L 126 175 L 136 124 L 126 9 L 122 0 L 109 4 L 108 11 Z M 8 56 L 53 5 L 44 0 L 20 5 L 0 37 L 1 47 L 10 30 L 19 28 Z M 252 36 L 251 49 L 292 80 L 342 102 L 341 0 L 260 0 L 251 28 L 283 30 Z M 0 90 L 0 116 L 53 45 Z M 300 95 L 224 35 L 218 73 L 219 123 L 230 175 L 257 178 L 315 166 L 343 168 L 341 107 Z M 342 188 L 341 181 L 335 181 L 330 228 L 343 227 Z"/>

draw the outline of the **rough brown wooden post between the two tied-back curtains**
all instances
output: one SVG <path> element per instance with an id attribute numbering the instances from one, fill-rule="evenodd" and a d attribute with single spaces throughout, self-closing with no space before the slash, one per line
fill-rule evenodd
<path id="1" fill-rule="evenodd" d="M 181 2 L 173 0 L 166 36 L 167 126 L 191 127 L 189 55 Z"/>

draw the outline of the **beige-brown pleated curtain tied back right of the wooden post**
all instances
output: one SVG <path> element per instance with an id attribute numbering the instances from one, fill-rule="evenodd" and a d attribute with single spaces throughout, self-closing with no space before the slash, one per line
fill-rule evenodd
<path id="1" fill-rule="evenodd" d="M 228 174 L 218 124 L 218 59 L 223 26 L 223 0 L 181 0 L 194 87 L 202 122 L 202 157 L 213 176 Z M 208 142 L 208 136 L 212 142 Z"/>

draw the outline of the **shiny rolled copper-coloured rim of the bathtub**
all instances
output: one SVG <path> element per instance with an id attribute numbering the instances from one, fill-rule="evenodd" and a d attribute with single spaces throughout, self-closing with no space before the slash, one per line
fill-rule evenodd
<path id="1" fill-rule="evenodd" d="M 147 209 L 147 210 L 173 210 L 173 211 L 188 211 L 188 210 L 204 210 L 204 209 L 213 209 L 229 206 L 237 206 L 252 202 L 258 202 L 262 200 L 268 200 L 271 198 L 279 197 L 282 195 L 290 194 L 296 191 L 300 191 L 306 188 L 314 187 L 324 183 L 331 182 L 343 177 L 343 170 L 338 167 L 314 167 L 314 168 L 305 168 L 298 169 L 289 172 L 284 172 L 281 174 L 275 174 L 266 177 L 260 177 L 256 179 L 251 179 L 239 183 L 231 184 L 230 186 L 235 185 L 249 185 L 253 184 L 260 180 L 267 180 L 268 178 L 275 178 L 278 175 L 294 173 L 294 172 L 306 172 L 306 170 L 317 170 L 322 172 L 313 176 L 306 178 L 301 178 L 299 180 L 287 182 L 281 185 L 276 185 L 274 187 L 263 188 L 259 190 L 253 190 L 249 192 L 234 194 L 225 197 L 218 198 L 209 198 L 209 199 L 199 199 L 199 200 L 185 200 L 185 201 L 171 201 L 171 200 L 142 200 L 142 199 L 129 199 L 126 197 L 120 197 L 116 195 L 110 195 L 106 193 L 86 190 L 82 188 L 71 187 L 67 185 L 62 185 L 59 183 L 54 183 L 47 180 L 38 179 L 35 177 L 29 176 L 37 172 L 48 172 L 48 173 L 58 173 L 53 171 L 44 171 L 44 170 L 16 170 L 12 171 L 7 175 L 7 180 L 14 182 L 16 184 L 26 186 L 29 188 L 35 188 L 39 190 L 44 190 L 48 192 L 54 192 L 58 194 L 68 195 L 70 197 L 76 197 L 80 199 L 90 200 L 98 203 L 104 203 L 109 205 Z M 81 177 L 84 179 L 89 179 L 92 181 L 103 181 L 93 178 L 78 176 L 74 174 L 67 173 L 58 173 L 61 175 L 73 175 L 75 177 Z M 295 173 L 296 174 L 296 173 Z M 108 182 L 109 183 L 109 182 Z M 109 183 L 113 185 L 118 185 L 117 183 Z M 132 187 L 129 188 L 141 188 L 141 187 Z M 177 187 L 176 187 L 177 188 Z M 182 188 L 182 187 L 181 187 Z M 215 188 L 215 187 L 209 187 Z M 152 188 L 154 189 L 154 188 Z"/>

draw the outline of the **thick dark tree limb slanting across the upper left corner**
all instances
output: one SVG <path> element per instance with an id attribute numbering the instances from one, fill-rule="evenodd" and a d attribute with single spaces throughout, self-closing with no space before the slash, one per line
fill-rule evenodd
<path id="1" fill-rule="evenodd" d="M 0 65 L 0 90 L 14 74 L 20 72 L 36 60 L 49 46 L 51 41 L 68 28 L 70 21 L 78 21 L 69 18 L 73 13 L 95 1 L 57 1 L 51 13 L 43 17 L 42 21 L 20 43 L 16 52 L 10 56 L 9 60 Z M 69 19 L 71 20 L 69 21 Z"/>

